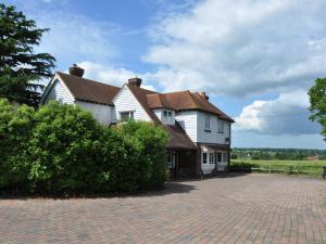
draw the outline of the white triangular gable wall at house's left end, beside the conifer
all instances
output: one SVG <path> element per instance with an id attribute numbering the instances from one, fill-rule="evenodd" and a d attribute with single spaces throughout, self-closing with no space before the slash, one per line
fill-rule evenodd
<path id="1" fill-rule="evenodd" d="M 57 100 L 61 103 L 74 104 L 74 100 L 70 94 L 67 88 L 60 80 L 54 80 L 51 90 L 49 91 L 45 103 L 48 103 L 51 100 Z"/>

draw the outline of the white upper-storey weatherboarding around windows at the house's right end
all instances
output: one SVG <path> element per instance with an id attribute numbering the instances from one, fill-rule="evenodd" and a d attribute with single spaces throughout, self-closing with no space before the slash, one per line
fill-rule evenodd
<path id="1" fill-rule="evenodd" d="M 210 116 L 211 131 L 205 131 L 205 116 Z M 225 144 L 225 139 L 229 138 L 230 123 L 224 121 L 223 133 L 217 132 L 217 116 L 204 112 L 197 112 L 197 141 L 202 143 Z"/>

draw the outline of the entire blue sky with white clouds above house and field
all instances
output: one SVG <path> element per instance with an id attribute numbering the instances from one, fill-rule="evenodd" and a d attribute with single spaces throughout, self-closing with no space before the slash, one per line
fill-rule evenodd
<path id="1" fill-rule="evenodd" d="M 2 1 L 3 2 L 3 1 Z M 121 86 L 205 91 L 233 146 L 326 149 L 309 88 L 326 77 L 325 0 L 4 0 L 51 30 L 36 52 Z"/>

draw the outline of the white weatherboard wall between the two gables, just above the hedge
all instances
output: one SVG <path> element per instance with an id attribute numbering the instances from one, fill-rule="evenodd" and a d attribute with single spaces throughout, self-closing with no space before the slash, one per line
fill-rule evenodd
<path id="1" fill-rule="evenodd" d="M 110 125 L 113 123 L 112 106 L 82 101 L 76 101 L 75 104 L 91 112 L 92 116 L 102 125 Z"/>

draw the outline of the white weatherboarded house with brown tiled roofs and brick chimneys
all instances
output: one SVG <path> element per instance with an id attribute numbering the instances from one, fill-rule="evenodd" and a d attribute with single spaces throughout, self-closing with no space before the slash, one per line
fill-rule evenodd
<path id="1" fill-rule="evenodd" d="M 70 75 L 55 73 L 41 103 L 58 100 L 90 111 L 104 125 L 125 119 L 162 125 L 170 134 L 166 145 L 173 177 L 225 170 L 229 164 L 234 120 L 213 105 L 204 92 L 159 93 L 141 88 L 131 78 L 122 88 L 83 78 L 74 66 Z"/>

